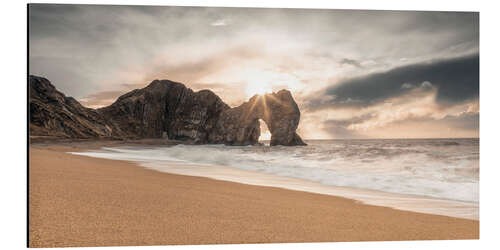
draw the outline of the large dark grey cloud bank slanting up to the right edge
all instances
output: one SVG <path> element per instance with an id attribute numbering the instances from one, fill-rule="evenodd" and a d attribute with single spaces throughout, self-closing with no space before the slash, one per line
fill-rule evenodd
<path id="1" fill-rule="evenodd" d="M 479 97 L 479 55 L 412 64 L 347 79 L 309 97 L 306 107 L 366 107 L 408 93 L 413 88 L 438 90 L 442 105 Z"/>

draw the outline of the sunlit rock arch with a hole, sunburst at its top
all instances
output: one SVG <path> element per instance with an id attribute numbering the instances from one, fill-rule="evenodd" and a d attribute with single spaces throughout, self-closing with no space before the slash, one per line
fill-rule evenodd
<path id="1" fill-rule="evenodd" d="M 288 90 L 255 95 L 238 107 L 224 110 L 209 141 L 230 145 L 255 144 L 260 136 L 259 119 L 271 132 L 271 146 L 306 145 L 295 132 L 300 111 Z"/>

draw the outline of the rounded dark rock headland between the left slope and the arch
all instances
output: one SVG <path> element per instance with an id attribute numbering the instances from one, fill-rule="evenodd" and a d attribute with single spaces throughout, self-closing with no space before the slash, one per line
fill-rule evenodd
<path id="1" fill-rule="evenodd" d="M 229 106 L 210 90 L 193 92 L 182 83 L 155 80 L 97 112 L 134 137 L 208 143 L 208 135 L 226 109 Z"/>

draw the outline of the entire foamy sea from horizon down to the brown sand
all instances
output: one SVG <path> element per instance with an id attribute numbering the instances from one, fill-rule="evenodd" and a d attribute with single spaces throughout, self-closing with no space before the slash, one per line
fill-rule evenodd
<path id="1" fill-rule="evenodd" d="M 479 139 L 306 140 L 308 146 L 105 147 L 73 154 L 157 171 L 479 219 Z"/>

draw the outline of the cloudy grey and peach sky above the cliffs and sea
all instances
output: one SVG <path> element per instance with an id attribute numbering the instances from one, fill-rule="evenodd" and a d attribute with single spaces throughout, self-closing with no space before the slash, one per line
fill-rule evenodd
<path id="1" fill-rule="evenodd" d="M 476 12 L 34 4 L 29 67 L 91 108 L 169 79 L 288 89 L 306 139 L 479 137 Z"/>

